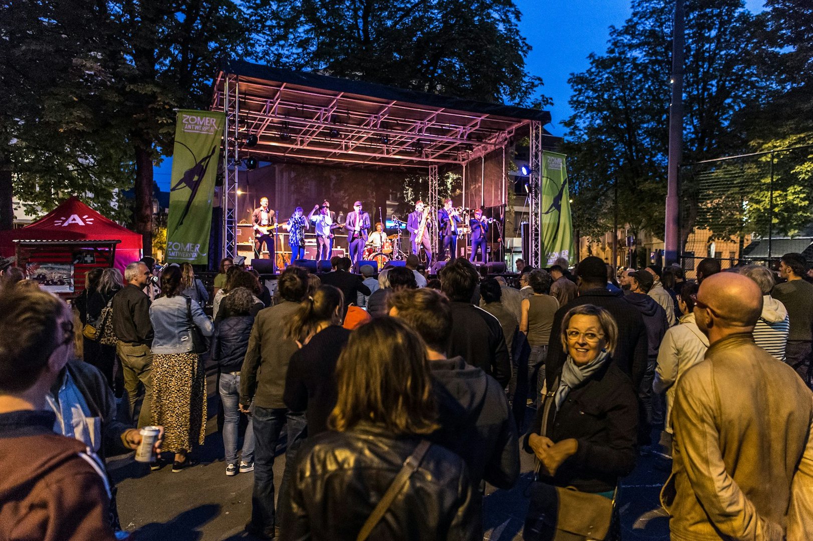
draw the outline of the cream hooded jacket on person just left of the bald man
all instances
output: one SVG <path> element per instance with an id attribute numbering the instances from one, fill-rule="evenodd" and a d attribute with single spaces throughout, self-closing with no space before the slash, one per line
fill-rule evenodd
<path id="1" fill-rule="evenodd" d="M 652 390 L 666 391 L 666 431 L 672 434 L 672 404 L 675 402 L 675 386 L 686 370 L 703 360 L 709 339 L 702 334 L 694 321 L 694 314 L 686 314 L 680 323 L 666 331 L 658 351 L 658 365 Z"/>

